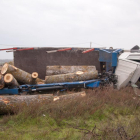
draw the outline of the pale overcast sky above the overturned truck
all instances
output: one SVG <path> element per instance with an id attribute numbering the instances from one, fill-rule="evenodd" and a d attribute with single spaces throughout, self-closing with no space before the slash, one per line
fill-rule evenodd
<path id="1" fill-rule="evenodd" d="M 0 48 L 89 47 L 89 42 L 140 45 L 140 0 L 0 0 Z M 0 59 L 12 57 L 0 51 Z"/>

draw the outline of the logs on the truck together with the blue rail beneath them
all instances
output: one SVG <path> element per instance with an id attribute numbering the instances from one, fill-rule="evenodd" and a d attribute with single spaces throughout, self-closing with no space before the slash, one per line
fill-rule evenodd
<path id="1" fill-rule="evenodd" d="M 49 67 L 49 66 L 48 66 Z M 95 66 L 52 66 L 54 73 L 58 75 L 46 76 L 45 80 L 38 78 L 38 73 L 32 74 L 21 70 L 13 65 L 5 63 L 0 75 L 0 94 L 32 94 L 36 92 L 60 90 L 70 88 L 89 88 L 98 87 L 100 81 L 98 78 L 98 71 Z M 60 70 L 61 69 L 61 70 Z M 69 73 L 70 71 L 76 71 Z M 52 70 L 51 70 L 52 71 Z M 91 84 L 92 83 L 92 84 Z"/>

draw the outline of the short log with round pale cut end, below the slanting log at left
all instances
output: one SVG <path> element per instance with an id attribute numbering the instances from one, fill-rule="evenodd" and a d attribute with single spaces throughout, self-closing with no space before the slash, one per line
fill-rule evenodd
<path id="1" fill-rule="evenodd" d="M 7 86 L 10 86 L 10 87 L 18 87 L 19 86 L 17 80 L 10 73 L 7 73 L 4 76 L 4 82 L 6 83 Z"/>

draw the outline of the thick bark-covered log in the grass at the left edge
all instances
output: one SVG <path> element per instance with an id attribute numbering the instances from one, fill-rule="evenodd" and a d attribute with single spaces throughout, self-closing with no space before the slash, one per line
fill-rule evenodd
<path id="1" fill-rule="evenodd" d="M 14 112 L 19 107 L 22 109 L 24 106 L 51 101 L 53 94 L 0 96 L 0 114 Z"/>

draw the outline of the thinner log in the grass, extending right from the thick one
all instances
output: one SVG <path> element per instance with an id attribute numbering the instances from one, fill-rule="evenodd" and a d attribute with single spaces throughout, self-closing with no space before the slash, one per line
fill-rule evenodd
<path id="1" fill-rule="evenodd" d="M 78 97 L 85 97 L 86 93 L 85 91 L 82 92 L 77 92 L 77 93 L 72 93 L 72 94 L 66 94 L 66 95 L 61 95 L 61 96 L 55 96 L 53 98 L 53 101 L 61 101 L 61 100 L 73 100 Z"/>

